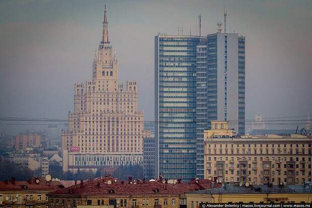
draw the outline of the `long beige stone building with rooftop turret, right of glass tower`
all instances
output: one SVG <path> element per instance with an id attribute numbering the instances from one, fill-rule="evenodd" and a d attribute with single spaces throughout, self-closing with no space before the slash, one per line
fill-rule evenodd
<path id="1" fill-rule="evenodd" d="M 212 126 L 215 123 L 220 124 Z M 229 129 L 222 135 L 219 127 L 204 131 L 205 178 L 255 185 L 311 181 L 312 138 L 298 134 L 230 138 Z"/>

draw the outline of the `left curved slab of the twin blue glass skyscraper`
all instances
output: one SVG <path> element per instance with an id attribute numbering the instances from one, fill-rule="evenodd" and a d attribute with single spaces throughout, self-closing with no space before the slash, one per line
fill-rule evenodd
<path id="1" fill-rule="evenodd" d="M 199 36 L 155 36 L 155 177 L 196 177 Z"/>

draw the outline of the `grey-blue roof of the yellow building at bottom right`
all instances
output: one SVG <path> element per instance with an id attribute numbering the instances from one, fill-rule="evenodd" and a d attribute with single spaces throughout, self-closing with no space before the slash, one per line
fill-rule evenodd
<path id="1" fill-rule="evenodd" d="M 226 184 L 226 186 L 211 188 L 199 191 L 192 191 L 189 193 L 210 193 L 210 194 L 236 194 L 236 193 L 312 193 L 312 186 L 298 186 L 298 185 L 285 185 L 278 186 L 272 185 L 255 185 L 255 186 L 237 186 L 233 184 Z"/>

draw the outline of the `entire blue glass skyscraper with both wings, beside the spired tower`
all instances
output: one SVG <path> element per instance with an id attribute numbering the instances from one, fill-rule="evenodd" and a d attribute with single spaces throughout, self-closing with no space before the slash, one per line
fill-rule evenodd
<path id="1" fill-rule="evenodd" d="M 203 178 L 213 120 L 245 134 L 245 37 L 155 36 L 155 177 Z"/>

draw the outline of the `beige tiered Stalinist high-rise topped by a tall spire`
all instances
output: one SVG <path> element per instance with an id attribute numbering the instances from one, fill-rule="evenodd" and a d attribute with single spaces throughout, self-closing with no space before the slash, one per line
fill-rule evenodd
<path id="1" fill-rule="evenodd" d="M 106 7 L 103 33 L 93 60 L 92 80 L 74 85 L 74 112 L 62 131 L 63 170 L 142 163 L 143 112 L 137 82 L 118 80 L 116 51 L 109 42 Z"/>

